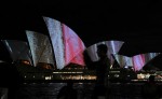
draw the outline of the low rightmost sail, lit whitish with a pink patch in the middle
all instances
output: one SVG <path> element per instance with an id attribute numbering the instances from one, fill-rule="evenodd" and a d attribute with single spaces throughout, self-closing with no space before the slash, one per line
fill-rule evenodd
<path id="1" fill-rule="evenodd" d="M 149 62 L 159 54 L 160 53 L 146 53 L 146 54 L 135 55 L 133 57 L 114 54 L 113 56 L 121 68 L 133 67 L 135 71 L 139 71 L 147 62 Z"/>

